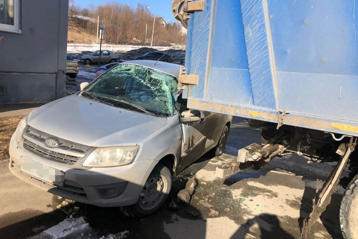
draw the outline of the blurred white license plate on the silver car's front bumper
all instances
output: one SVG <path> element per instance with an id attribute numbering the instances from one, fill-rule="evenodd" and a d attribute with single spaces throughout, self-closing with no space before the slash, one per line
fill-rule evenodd
<path id="1" fill-rule="evenodd" d="M 40 180 L 63 186 L 65 174 L 57 169 L 51 168 L 46 164 L 37 162 L 29 157 L 20 158 L 20 170 L 28 173 Z"/>

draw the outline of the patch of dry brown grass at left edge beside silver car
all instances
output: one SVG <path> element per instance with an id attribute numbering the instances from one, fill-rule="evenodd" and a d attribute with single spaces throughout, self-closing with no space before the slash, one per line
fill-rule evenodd
<path id="1" fill-rule="evenodd" d="M 18 126 L 21 118 L 23 118 L 23 116 L 0 118 L 0 160 L 10 158 L 10 139 L 15 132 L 16 126 Z"/>

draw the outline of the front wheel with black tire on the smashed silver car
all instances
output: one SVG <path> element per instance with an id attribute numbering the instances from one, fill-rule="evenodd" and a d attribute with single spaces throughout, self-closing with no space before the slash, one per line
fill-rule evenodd
<path id="1" fill-rule="evenodd" d="M 169 168 L 158 163 L 145 182 L 137 203 L 132 205 L 132 215 L 144 217 L 159 209 L 168 198 L 171 180 L 172 175 Z"/>

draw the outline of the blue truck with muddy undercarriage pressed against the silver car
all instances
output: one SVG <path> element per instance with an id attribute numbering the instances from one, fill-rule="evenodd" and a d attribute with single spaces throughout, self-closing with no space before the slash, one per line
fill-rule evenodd
<path id="1" fill-rule="evenodd" d="M 240 149 L 217 176 L 287 153 L 338 162 L 305 236 L 348 164 L 340 224 L 344 238 L 358 238 L 358 1 L 173 0 L 172 10 L 188 29 L 179 77 L 188 107 L 262 128 L 261 144 Z"/>

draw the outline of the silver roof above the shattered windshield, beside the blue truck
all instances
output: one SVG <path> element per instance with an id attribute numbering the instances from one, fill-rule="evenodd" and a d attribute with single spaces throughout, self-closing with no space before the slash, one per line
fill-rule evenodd
<path id="1" fill-rule="evenodd" d="M 158 61 L 154 66 L 155 62 L 156 61 L 149 61 L 149 60 L 134 60 L 134 61 L 125 61 L 122 62 L 121 64 L 136 64 L 139 66 L 144 66 L 147 68 L 151 68 L 157 71 L 167 73 L 169 75 L 176 77 L 176 79 L 179 79 L 179 68 L 183 66 L 178 64 L 163 62 L 163 61 Z"/>

